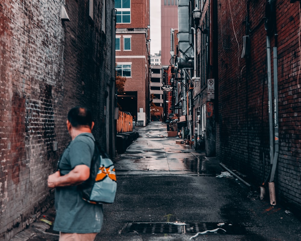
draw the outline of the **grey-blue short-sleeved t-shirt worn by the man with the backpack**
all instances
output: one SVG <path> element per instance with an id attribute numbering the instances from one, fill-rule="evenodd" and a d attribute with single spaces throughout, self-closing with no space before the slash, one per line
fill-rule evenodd
<path id="1" fill-rule="evenodd" d="M 91 137 L 89 137 L 91 136 Z M 77 165 L 90 167 L 94 153 L 94 136 L 82 133 L 70 142 L 64 151 L 59 169 L 61 175 L 69 173 Z M 63 233 L 99 233 L 103 222 L 102 205 L 84 201 L 77 186 L 55 189 L 56 217 L 53 229 Z"/>

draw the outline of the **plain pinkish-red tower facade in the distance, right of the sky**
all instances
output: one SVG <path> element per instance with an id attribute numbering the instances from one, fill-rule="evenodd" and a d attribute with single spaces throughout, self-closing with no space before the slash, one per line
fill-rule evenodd
<path id="1" fill-rule="evenodd" d="M 170 64 L 171 29 L 178 29 L 178 0 L 161 0 L 161 64 Z"/>

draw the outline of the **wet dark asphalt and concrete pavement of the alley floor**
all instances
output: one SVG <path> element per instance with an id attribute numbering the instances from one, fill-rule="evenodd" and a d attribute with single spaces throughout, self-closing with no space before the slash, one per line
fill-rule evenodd
<path id="1" fill-rule="evenodd" d="M 176 144 L 181 139 L 167 137 L 161 122 L 134 131 L 140 137 L 115 160 L 116 199 L 104 205 L 96 241 L 301 240 L 297 214 L 260 200 L 234 177 L 216 177 L 222 160 Z M 47 224 L 54 216 L 52 207 L 11 241 L 58 240 Z M 217 231 L 192 238 L 207 229 Z"/>

